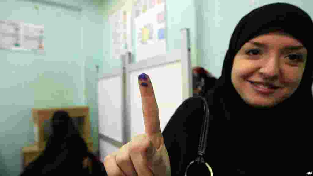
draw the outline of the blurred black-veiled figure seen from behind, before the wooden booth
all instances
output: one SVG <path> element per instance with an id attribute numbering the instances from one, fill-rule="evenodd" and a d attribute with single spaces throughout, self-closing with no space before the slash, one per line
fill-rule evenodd
<path id="1" fill-rule="evenodd" d="M 52 135 L 44 152 L 25 168 L 22 175 L 88 172 L 82 163 L 90 153 L 69 114 L 66 111 L 55 112 L 51 126 Z"/>

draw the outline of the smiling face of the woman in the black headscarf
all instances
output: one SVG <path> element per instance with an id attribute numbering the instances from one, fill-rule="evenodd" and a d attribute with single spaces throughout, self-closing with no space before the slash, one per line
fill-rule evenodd
<path id="1" fill-rule="evenodd" d="M 235 55 L 233 86 L 252 106 L 275 106 L 298 88 L 306 59 L 307 50 L 292 36 L 278 32 L 260 35 Z"/>

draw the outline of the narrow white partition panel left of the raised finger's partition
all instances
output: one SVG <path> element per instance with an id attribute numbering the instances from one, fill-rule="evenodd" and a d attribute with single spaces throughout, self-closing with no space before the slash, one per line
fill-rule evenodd
<path id="1" fill-rule="evenodd" d="M 124 87 L 122 67 L 98 80 L 99 134 L 117 142 L 124 141 Z"/>

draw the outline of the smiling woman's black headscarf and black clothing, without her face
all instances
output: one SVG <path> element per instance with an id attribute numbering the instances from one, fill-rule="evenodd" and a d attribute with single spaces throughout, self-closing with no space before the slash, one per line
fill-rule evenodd
<path id="1" fill-rule="evenodd" d="M 289 98 L 273 107 L 253 107 L 233 86 L 233 59 L 246 42 L 274 31 L 290 34 L 304 45 L 308 51 L 305 70 Z M 239 21 L 222 75 L 205 96 L 210 111 L 206 161 L 215 176 L 301 175 L 313 169 L 312 31 L 310 16 L 287 3 L 262 6 Z M 178 107 L 163 131 L 173 175 L 184 175 L 187 164 L 197 156 L 203 113 L 201 100 L 190 98 Z"/>

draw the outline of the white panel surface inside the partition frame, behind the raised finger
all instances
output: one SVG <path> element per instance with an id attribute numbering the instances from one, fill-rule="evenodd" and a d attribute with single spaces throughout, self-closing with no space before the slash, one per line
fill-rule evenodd
<path id="1" fill-rule="evenodd" d="M 130 73 L 130 116 L 131 136 L 144 133 L 144 121 L 141 107 L 141 97 L 138 86 L 138 75 L 149 75 L 156 102 L 159 107 L 161 129 L 165 128 L 168 120 L 175 112 L 177 105 L 182 103 L 182 65 L 179 61 L 149 69 L 137 70 Z"/>

